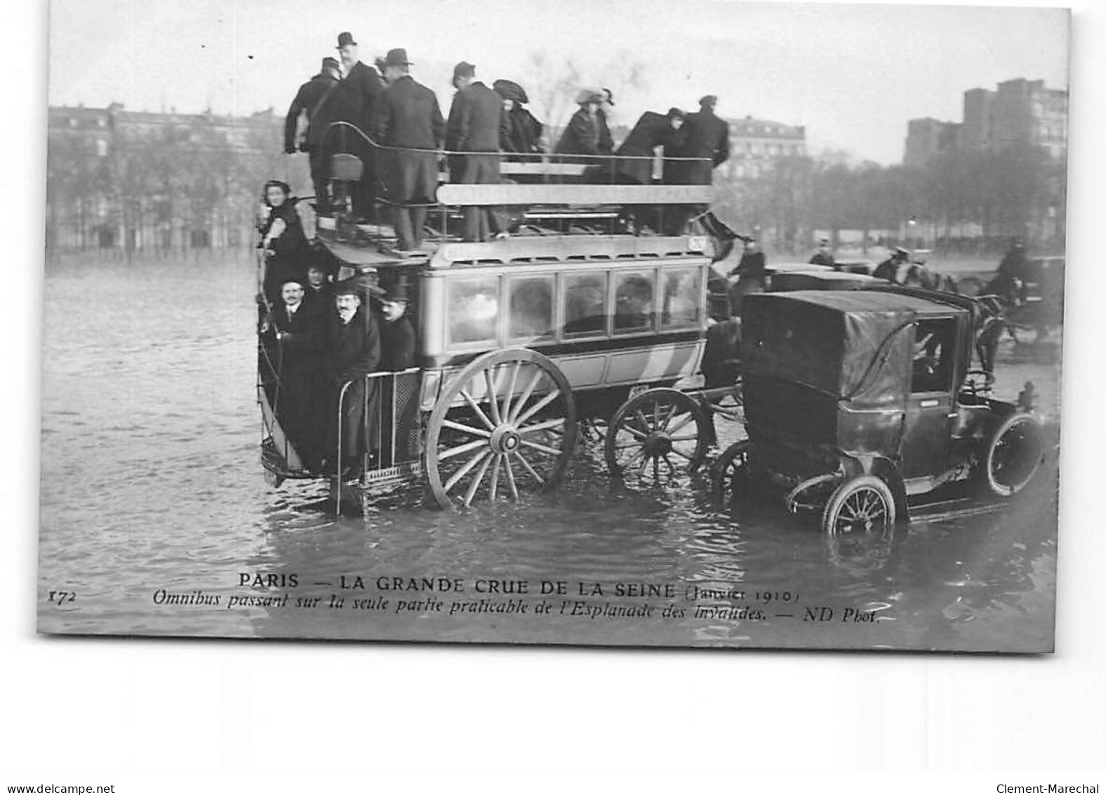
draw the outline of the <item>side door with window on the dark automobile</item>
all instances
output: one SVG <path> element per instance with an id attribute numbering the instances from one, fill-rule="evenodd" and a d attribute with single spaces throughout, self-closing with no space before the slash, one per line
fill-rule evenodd
<path id="1" fill-rule="evenodd" d="M 927 479 L 945 471 L 956 418 L 952 378 L 956 372 L 954 317 L 926 317 L 914 325 L 914 358 L 901 441 L 904 480 L 917 480 L 908 491 L 926 491 Z"/>

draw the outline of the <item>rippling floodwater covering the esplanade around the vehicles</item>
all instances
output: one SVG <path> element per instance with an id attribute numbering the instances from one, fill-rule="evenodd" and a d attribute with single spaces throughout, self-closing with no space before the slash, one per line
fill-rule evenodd
<path id="1" fill-rule="evenodd" d="M 860 550 L 701 478 L 619 488 L 594 442 L 552 494 L 444 513 L 416 484 L 335 516 L 325 484 L 262 477 L 252 280 L 247 255 L 48 266 L 41 631 L 1052 648 L 1052 448 L 1013 501 Z M 1057 362 L 1006 342 L 997 384 L 1033 380 L 1053 431 Z"/>

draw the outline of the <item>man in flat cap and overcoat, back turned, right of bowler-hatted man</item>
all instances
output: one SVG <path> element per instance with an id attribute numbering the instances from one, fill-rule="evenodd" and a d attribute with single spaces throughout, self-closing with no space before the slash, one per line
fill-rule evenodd
<path id="1" fill-rule="evenodd" d="M 477 67 L 461 61 L 453 67 L 453 104 L 446 125 L 446 149 L 465 153 L 450 163 L 450 181 L 499 184 L 499 142 L 511 128 L 499 94 L 477 80 Z M 465 239 L 490 240 L 502 231 L 493 208 L 466 207 Z"/>

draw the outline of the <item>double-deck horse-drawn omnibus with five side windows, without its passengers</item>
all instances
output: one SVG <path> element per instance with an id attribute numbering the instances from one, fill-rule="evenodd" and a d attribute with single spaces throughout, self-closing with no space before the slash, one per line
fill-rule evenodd
<path id="1" fill-rule="evenodd" d="M 603 158 L 601 172 L 617 159 Z M 507 181 L 520 168 L 528 181 Z M 442 508 L 554 488 L 582 422 L 607 426 L 619 473 L 702 461 L 709 414 L 670 387 L 698 372 L 719 241 L 693 218 L 672 234 L 627 219 L 640 208 L 701 216 L 711 186 L 578 181 L 587 168 L 504 161 L 504 184 L 444 184 L 418 252 L 397 251 L 390 227 L 320 217 L 319 242 L 342 281 L 406 286 L 417 339 L 414 368 L 366 376 L 364 436 L 375 449 L 366 446 L 356 483 L 332 477 L 337 500 L 363 504 L 418 477 Z M 459 239 L 452 229 L 470 207 L 510 208 L 510 237 Z M 258 391 L 265 469 L 274 481 L 324 477 L 282 428 L 272 380 Z"/>

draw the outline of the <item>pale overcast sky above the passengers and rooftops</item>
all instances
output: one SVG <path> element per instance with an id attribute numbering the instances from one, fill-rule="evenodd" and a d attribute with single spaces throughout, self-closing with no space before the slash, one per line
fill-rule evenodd
<path id="1" fill-rule="evenodd" d="M 309 11 L 309 8 L 311 9 Z M 646 109 L 718 112 L 805 125 L 812 150 L 901 160 L 908 118 L 960 121 L 962 93 L 1013 77 L 1067 87 L 1058 8 L 744 3 L 699 0 L 53 0 L 50 103 L 284 113 L 349 30 L 372 61 L 405 46 L 448 107 L 451 66 L 534 92 L 531 54 L 571 60 L 616 91 L 617 121 Z M 628 65 L 643 67 L 626 87 Z M 541 115 L 541 107 L 533 108 Z M 556 121 L 556 119 L 551 119 Z"/>

